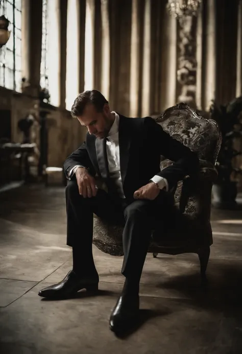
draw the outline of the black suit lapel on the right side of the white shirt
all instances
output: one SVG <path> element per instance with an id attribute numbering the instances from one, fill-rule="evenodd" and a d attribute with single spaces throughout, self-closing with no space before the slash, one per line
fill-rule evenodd
<path id="1" fill-rule="evenodd" d="M 120 173 L 122 182 L 127 175 L 128 163 L 130 158 L 131 131 L 128 124 L 129 119 L 123 115 L 119 115 L 118 141 L 119 141 L 119 158 L 120 158 Z"/>

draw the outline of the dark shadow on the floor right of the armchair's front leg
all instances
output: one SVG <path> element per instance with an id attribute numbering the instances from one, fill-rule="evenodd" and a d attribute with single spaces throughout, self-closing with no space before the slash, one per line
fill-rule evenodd
<path id="1" fill-rule="evenodd" d="M 191 304 L 212 312 L 225 312 L 241 317 L 242 262 L 236 264 L 212 260 L 213 271 L 207 271 L 208 283 L 201 284 L 200 274 L 178 275 L 162 282 L 159 288 L 174 289 L 185 295 Z"/>

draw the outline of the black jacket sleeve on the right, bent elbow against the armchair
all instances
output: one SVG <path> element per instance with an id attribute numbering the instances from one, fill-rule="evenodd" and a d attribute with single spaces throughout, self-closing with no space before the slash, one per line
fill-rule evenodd
<path id="1" fill-rule="evenodd" d="M 198 173 L 199 158 L 196 152 L 192 152 L 180 141 L 171 137 L 151 117 L 144 120 L 144 126 L 147 144 L 152 144 L 154 149 L 158 149 L 160 155 L 174 161 L 172 166 L 166 167 L 156 174 L 167 180 L 169 190 L 186 175 Z"/>

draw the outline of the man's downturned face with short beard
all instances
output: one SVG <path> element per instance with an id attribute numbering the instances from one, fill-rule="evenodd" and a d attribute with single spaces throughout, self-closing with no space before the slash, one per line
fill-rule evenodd
<path id="1" fill-rule="evenodd" d="M 92 104 L 87 104 L 83 114 L 78 116 L 77 119 L 82 126 L 88 129 L 89 134 L 93 134 L 99 139 L 108 136 L 108 132 L 113 124 L 110 120 L 110 108 L 108 104 L 104 105 L 102 112 L 97 112 Z"/>

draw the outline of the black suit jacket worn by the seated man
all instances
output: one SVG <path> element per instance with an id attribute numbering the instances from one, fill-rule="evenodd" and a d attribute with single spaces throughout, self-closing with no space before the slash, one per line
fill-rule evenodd
<path id="1" fill-rule="evenodd" d="M 197 154 L 164 132 L 151 117 L 133 119 L 119 114 L 118 137 L 120 173 L 127 198 L 132 198 L 154 175 L 166 178 L 171 191 L 179 180 L 198 171 Z M 174 161 L 162 171 L 161 155 Z M 105 139 L 87 133 L 86 141 L 64 162 L 68 179 L 69 171 L 77 164 L 88 168 L 93 176 L 98 174 L 111 190 Z"/>

